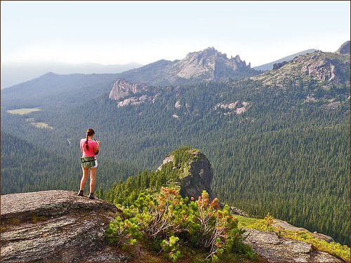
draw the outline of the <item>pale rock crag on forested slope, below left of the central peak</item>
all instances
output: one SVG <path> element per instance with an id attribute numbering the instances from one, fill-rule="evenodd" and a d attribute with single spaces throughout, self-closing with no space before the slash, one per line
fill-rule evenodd
<path id="1" fill-rule="evenodd" d="M 131 83 L 126 79 L 117 79 L 110 91 L 109 98 L 110 100 L 121 100 L 145 90 L 147 90 L 145 83 Z"/>

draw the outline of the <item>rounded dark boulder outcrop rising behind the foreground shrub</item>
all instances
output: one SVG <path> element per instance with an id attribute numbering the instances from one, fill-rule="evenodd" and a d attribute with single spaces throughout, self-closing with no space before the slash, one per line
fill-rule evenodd
<path id="1" fill-rule="evenodd" d="M 213 180 L 213 169 L 206 156 L 197 149 L 185 149 L 190 158 L 178 165 L 175 156 L 171 153 L 162 162 L 157 170 L 164 168 L 166 163 L 172 163 L 172 169 L 178 170 L 180 194 L 189 198 L 201 196 L 202 191 L 206 191 L 213 199 L 211 183 Z"/>

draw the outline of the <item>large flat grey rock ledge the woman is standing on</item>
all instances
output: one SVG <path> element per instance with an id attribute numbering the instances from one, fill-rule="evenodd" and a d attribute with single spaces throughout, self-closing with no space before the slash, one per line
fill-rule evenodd
<path id="1" fill-rule="evenodd" d="M 1 196 L 1 262 L 121 262 L 105 241 L 117 208 L 72 191 Z"/>

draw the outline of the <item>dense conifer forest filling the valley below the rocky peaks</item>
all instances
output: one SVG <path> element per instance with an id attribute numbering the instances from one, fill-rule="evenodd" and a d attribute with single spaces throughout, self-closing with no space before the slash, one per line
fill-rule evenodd
<path id="1" fill-rule="evenodd" d="M 279 88 L 245 79 L 154 86 L 140 94 L 157 95 L 154 103 L 126 107 L 117 107 L 103 85 L 102 95 L 87 93 L 86 100 L 70 102 L 66 95 L 60 109 L 54 98 L 53 107 L 50 100 L 29 100 L 43 110 L 25 116 L 1 108 L 1 194 L 76 191 L 79 140 L 91 127 L 102 141 L 99 192 L 155 170 L 173 149 L 189 145 L 211 161 L 213 194 L 223 203 L 350 242 L 350 83 L 286 80 Z M 218 107 L 233 102 L 247 102 L 246 111 Z M 28 118 L 53 130 L 35 128 Z"/>

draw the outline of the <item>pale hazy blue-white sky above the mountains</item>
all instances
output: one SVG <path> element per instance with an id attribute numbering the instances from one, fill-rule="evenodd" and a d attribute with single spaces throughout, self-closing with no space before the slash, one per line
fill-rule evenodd
<path id="1" fill-rule="evenodd" d="M 213 46 L 251 66 L 350 40 L 350 1 L 1 1 L 1 63 L 147 64 Z"/>

